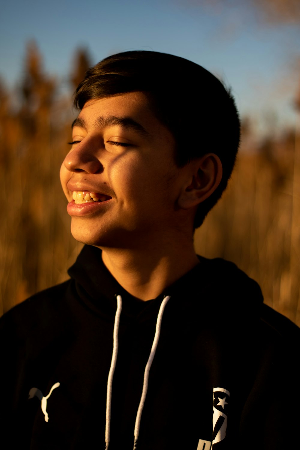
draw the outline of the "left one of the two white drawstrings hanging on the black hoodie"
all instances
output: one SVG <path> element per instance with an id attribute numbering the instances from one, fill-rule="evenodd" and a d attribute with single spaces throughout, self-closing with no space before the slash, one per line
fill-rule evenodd
<path id="1" fill-rule="evenodd" d="M 116 357 L 118 355 L 118 332 L 120 324 L 120 315 L 122 310 L 122 297 L 121 295 L 116 296 L 117 308 L 115 315 L 115 324 L 113 327 L 113 349 L 112 349 L 112 362 L 109 369 L 108 379 L 107 379 L 107 395 L 106 395 L 106 425 L 105 425 L 105 450 L 108 449 L 109 439 L 110 439 L 110 416 L 112 408 L 112 378 L 116 368 Z"/>

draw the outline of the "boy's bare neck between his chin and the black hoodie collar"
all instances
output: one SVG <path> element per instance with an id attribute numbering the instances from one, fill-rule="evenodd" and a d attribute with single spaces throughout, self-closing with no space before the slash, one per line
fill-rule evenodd
<path id="1" fill-rule="evenodd" d="M 144 301 L 156 298 L 199 263 L 192 237 L 165 236 L 147 242 L 143 242 L 143 248 L 102 247 L 103 262 L 117 282 Z"/>

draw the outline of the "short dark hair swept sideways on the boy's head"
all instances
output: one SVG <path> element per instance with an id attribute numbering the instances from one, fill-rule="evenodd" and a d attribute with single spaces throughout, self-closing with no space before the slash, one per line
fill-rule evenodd
<path id="1" fill-rule="evenodd" d="M 206 153 L 215 153 L 222 162 L 218 188 L 198 206 L 197 228 L 221 197 L 236 159 L 240 121 L 230 90 L 187 59 L 137 50 L 109 56 L 91 67 L 76 89 L 74 106 L 81 110 L 90 99 L 134 91 L 148 94 L 153 112 L 174 135 L 179 167 Z"/>

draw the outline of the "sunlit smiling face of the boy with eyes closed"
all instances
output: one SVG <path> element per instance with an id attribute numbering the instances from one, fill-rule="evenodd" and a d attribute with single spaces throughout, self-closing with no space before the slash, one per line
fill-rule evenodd
<path id="1" fill-rule="evenodd" d="M 181 171 L 175 140 L 143 93 L 87 102 L 72 141 L 60 179 L 78 241 L 121 248 L 166 232 L 175 220 Z"/>

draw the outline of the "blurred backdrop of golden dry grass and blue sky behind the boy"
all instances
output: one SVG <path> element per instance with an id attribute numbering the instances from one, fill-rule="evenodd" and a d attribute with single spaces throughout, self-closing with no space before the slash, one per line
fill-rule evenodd
<path id="1" fill-rule="evenodd" d="M 195 246 L 235 262 L 300 325 L 299 25 L 298 0 L 3 2 L 0 314 L 67 279 L 81 248 L 58 180 L 72 94 L 90 65 L 137 49 L 190 59 L 232 87 L 241 150 Z"/>

